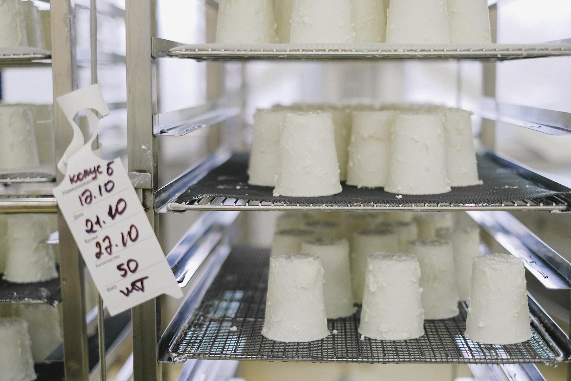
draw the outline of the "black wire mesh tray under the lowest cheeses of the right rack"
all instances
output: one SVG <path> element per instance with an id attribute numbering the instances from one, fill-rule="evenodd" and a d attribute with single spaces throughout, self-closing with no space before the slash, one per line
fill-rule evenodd
<path id="1" fill-rule="evenodd" d="M 419 339 L 360 340 L 360 308 L 348 318 L 328 320 L 329 335 L 310 343 L 280 343 L 261 334 L 266 308 L 270 250 L 235 247 L 190 321 L 172 340 L 168 354 L 187 359 L 292 360 L 355 363 L 546 363 L 562 351 L 533 315 L 532 339 L 512 345 L 472 342 L 464 336 L 467 306 L 453 319 L 425 320 Z M 231 331 L 231 327 L 238 330 Z"/>

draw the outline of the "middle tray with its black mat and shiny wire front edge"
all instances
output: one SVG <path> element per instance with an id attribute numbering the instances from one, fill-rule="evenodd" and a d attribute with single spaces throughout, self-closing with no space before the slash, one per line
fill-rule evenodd
<path id="1" fill-rule="evenodd" d="M 234 154 L 188 186 L 170 211 L 184 210 L 568 210 L 569 189 L 492 154 L 478 155 L 484 185 L 456 187 L 440 195 L 401 195 L 382 189 L 359 189 L 344 183 L 327 197 L 274 196 L 272 187 L 248 184 L 248 154 Z M 525 176 L 525 177 L 524 177 Z"/>

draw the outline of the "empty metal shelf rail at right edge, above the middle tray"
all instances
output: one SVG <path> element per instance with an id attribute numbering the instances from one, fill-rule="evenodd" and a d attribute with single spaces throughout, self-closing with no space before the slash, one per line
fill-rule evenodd
<path id="1" fill-rule="evenodd" d="M 509 125 L 525 127 L 549 135 L 571 134 L 571 113 L 538 109 L 536 107 L 509 105 L 484 97 L 477 114 L 482 118 Z"/>

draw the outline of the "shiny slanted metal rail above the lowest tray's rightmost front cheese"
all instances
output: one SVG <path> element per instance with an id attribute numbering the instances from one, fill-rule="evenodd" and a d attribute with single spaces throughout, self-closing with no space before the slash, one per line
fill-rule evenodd
<path id="1" fill-rule="evenodd" d="M 525 261 L 525 268 L 544 287 L 571 288 L 571 263 L 550 248 L 509 212 L 468 212 L 468 214 L 510 254 Z"/>

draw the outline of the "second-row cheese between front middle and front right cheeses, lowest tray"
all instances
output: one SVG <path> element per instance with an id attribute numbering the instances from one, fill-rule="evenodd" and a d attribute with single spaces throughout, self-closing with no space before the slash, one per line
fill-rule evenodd
<path id="1" fill-rule="evenodd" d="M 425 319 L 448 319 L 458 315 L 458 294 L 452 243 L 440 239 L 418 239 L 407 252 L 420 263 L 420 287 Z"/>

